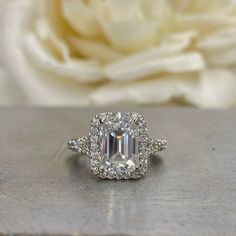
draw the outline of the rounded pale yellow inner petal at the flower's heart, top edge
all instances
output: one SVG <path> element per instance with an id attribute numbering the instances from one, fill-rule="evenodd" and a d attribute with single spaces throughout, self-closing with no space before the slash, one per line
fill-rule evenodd
<path id="1" fill-rule="evenodd" d="M 165 0 L 128 2 L 108 1 L 110 20 L 100 19 L 105 36 L 114 47 L 124 51 L 153 46 L 163 23 L 172 15 L 169 4 Z"/>

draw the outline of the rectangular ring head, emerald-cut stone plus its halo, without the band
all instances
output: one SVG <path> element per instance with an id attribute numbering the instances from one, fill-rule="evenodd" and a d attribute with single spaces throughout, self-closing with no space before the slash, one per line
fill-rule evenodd
<path id="1" fill-rule="evenodd" d="M 101 113 L 95 119 L 99 122 L 92 121 L 97 132 L 91 132 L 91 147 L 95 147 L 91 148 L 91 157 L 97 160 L 99 172 L 92 167 L 93 173 L 109 179 L 141 177 L 147 158 L 143 118 L 136 113 L 113 112 Z"/>

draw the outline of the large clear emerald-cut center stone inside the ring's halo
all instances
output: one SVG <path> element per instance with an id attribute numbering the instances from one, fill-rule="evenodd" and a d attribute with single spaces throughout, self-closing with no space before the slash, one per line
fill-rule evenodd
<path id="1" fill-rule="evenodd" d="M 104 167 L 111 166 L 117 172 L 132 172 L 138 164 L 137 127 L 126 130 L 109 130 L 103 127 L 100 133 L 100 151 Z"/>

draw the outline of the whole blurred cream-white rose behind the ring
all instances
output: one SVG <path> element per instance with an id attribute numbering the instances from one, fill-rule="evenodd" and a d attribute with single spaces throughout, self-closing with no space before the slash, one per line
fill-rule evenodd
<path id="1" fill-rule="evenodd" d="M 236 105 L 232 2 L 4 3 L 2 55 L 19 103 Z"/>

